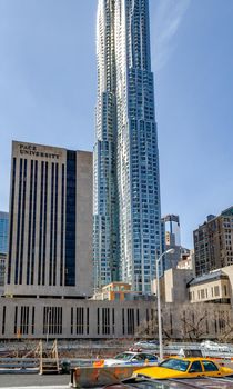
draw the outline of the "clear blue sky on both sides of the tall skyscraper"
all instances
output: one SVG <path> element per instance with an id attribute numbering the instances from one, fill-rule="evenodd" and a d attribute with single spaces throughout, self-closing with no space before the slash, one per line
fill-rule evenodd
<path id="1" fill-rule="evenodd" d="M 233 205 L 233 1 L 150 0 L 162 213 Z M 97 0 L 0 0 L 0 210 L 11 141 L 92 150 Z"/>

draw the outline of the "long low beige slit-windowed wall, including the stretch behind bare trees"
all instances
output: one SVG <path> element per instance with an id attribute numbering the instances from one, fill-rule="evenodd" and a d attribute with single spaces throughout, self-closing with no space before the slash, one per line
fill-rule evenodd
<path id="1" fill-rule="evenodd" d="M 162 317 L 164 339 L 221 339 L 232 333 L 230 305 L 163 303 Z M 1 339 L 142 337 L 158 338 L 154 301 L 0 298 Z"/>

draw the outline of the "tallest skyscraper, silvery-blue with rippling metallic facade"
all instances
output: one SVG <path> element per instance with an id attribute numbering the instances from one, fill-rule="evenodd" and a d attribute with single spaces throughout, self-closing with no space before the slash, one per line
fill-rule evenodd
<path id="1" fill-rule="evenodd" d="M 99 0 L 94 281 L 151 290 L 161 250 L 149 0 Z"/>

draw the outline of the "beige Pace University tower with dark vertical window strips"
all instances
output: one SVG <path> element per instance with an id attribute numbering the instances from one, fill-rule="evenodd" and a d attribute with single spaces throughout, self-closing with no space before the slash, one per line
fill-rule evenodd
<path id="1" fill-rule="evenodd" d="M 92 295 L 92 153 L 12 143 L 6 293 Z"/>

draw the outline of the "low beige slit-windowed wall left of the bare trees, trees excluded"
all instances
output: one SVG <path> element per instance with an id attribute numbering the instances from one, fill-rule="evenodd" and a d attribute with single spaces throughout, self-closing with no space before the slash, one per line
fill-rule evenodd
<path id="1" fill-rule="evenodd" d="M 0 298 L 0 338 L 132 338 L 153 309 L 140 301 Z"/>

